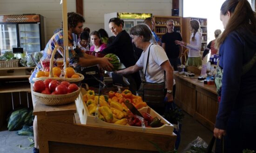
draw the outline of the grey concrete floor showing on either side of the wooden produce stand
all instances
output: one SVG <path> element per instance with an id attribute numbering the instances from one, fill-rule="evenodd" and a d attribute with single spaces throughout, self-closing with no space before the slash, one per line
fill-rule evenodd
<path id="1" fill-rule="evenodd" d="M 195 121 L 190 115 L 184 113 L 184 120 L 182 122 L 181 143 L 178 149 L 179 153 L 193 140 L 200 136 L 207 143 L 212 138 L 213 133 L 202 126 L 198 121 Z M 0 153 L 32 153 L 33 149 L 20 149 L 17 145 L 28 147 L 31 142 L 27 138 L 31 136 L 20 136 L 15 134 L 15 131 L 7 131 L 7 127 L 0 129 Z M 33 138 L 34 139 L 34 138 Z"/>

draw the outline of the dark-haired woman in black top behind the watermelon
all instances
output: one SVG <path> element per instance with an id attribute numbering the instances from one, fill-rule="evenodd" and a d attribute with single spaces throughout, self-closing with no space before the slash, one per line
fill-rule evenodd
<path id="1" fill-rule="evenodd" d="M 102 53 L 113 53 L 120 58 L 125 67 L 130 67 L 136 63 L 134 49 L 130 35 L 123 30 L 124 21 L 119 18 L 112 18 L 109 20 L 109 28 L 115 36 L 115 40 L 105 48 Z M 124 76 L 128 78 L 130 83 L 129 89 L 136 93 L 141 84 L 141 77 L 138 72 Z"/>

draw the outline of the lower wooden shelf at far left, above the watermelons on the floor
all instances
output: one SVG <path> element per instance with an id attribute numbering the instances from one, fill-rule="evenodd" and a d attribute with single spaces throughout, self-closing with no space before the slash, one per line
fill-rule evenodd
<path id="1" fill-rule="evenodd" d="M 29 82 L 13 82 L 0 86 L 0 93 L 9 92 L 31 92 Z"/>

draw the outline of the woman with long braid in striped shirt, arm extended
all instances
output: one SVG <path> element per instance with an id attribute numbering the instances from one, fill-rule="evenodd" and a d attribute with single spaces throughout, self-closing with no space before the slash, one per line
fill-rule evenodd
<path id="1" fill-rule="evenodd" d="M 189 48 L 189 57 L 186 64 L 187 66 L 199 67 L 200 65 L 202 65 L 202 59 L 200 55 L 202 45 L 202 33 L 199 31 L 199 21 L 196 19 L 190 20 L 189 29 L 192 32 L 190 36 L 190 42 L 186 43 L 183 41 L 175 40 L 175 44 Z"/>

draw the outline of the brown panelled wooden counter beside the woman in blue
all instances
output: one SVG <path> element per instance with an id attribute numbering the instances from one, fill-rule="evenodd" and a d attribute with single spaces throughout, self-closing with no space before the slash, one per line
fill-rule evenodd
<path id="1" fill-rule="evenodd" d="M 206 85 L 196 79 L 174 75 L 175 103 L 210 130 L 214 129 L 218 113 L 215 85 Z"/>

